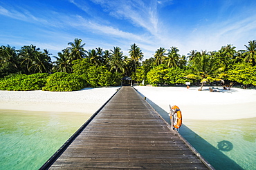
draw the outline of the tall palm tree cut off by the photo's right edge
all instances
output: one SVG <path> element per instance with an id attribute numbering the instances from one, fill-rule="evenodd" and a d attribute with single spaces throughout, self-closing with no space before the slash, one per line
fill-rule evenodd
<path id="1" fill-rule="evenodd" d="M 253 66 L 256 65 L 256 40 L 249 41 L 248 45 L 244 45 L 246 47 L 245 61 L 247 63 L 253 63 Z"/>

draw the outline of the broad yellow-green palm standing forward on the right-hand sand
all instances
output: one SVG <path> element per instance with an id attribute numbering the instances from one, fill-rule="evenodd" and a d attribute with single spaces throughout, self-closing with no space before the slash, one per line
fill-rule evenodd
<path id="1" fill-rule="evenodd" d="M 221 70 L 222 68 L 218 63 L 218 60 L 214 59 L 208 52 L 197 52 L 192 60 L 192 74 L 188 74 L 186 78 L 200 80 L 202 85 L 199 90 L 201 91 L 206 82 L 221 81 L 219 75 Z"/>

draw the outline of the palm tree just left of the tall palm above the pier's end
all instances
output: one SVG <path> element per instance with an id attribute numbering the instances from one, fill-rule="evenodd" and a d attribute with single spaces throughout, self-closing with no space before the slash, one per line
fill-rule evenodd
<path id="1" fill-rule="evenodd" d="M 124 56 L 122 55 L 120 47 L 113 47 L 111 51 L 111 56 L 109 59 L 110 71 L 125 73 L 125 63 L 123 61 Z"/>

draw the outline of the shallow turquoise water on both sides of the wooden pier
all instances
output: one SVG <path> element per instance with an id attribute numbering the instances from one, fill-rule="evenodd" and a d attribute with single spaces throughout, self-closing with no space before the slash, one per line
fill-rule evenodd
<path id="1" fill-rule="evenodd" d="M 0 169 L 38 169 L 89 116 L 0 110 Z M 256 118 L 183 120 L 180 134 L 215 169 L 255 169 Z"/>

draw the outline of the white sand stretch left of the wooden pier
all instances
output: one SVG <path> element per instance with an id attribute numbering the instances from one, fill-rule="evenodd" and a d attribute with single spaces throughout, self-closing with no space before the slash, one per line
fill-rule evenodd
<path id="1" fill-rule="evenodd" d="M 74 92 L 0 91 L 0 109 L 94 114 L 118 87 L 86 88 Z"/>

